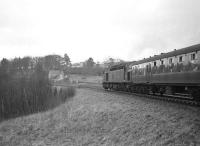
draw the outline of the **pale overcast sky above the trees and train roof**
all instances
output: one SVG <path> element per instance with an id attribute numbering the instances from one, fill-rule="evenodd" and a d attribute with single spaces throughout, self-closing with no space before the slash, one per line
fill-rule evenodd
<path id="1" fill-rule="evenodd" d="M 200 0 L 1 0 L 0 59 L 132 61 L 200 43 Z"/>

